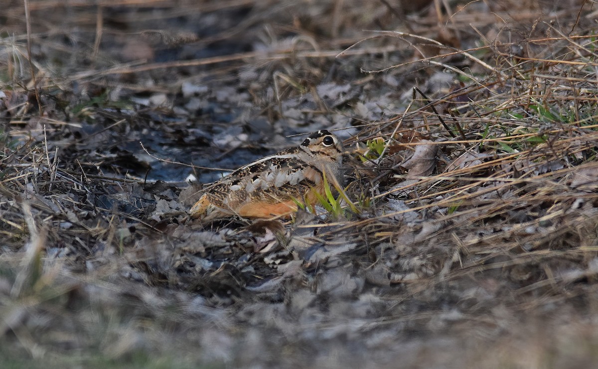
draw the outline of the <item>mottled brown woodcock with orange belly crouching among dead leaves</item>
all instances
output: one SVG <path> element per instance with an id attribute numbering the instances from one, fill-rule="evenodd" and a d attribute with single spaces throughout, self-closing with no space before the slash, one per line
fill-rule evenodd
<path id="1" fill-rule="evenodd" d="M 204 186 L 189 215 L 202 223 L 237 215 L 276 219 L 297 211 L 297 203 L 315 204 L 343 183 L 343 143 L 327 130 L 312 133 L 299 146 L 241 167 Z"/>

